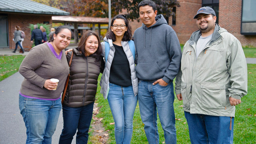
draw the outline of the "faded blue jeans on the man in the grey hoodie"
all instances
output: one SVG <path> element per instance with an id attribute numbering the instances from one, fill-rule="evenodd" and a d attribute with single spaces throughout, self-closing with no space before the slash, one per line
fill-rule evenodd
<path id="1" fill-rule="evenodd" d="M 141 119 L 149 144 L 159 144 L 157 113 L 164 130 L 166 144 L 176 144 L 175 115 L 173 109 L 173 83 L 167 86 L 153 85 L 151 82 L 139 81 L 138 91 Z M 157 111 L 156 111 L 157 108 Z"/>

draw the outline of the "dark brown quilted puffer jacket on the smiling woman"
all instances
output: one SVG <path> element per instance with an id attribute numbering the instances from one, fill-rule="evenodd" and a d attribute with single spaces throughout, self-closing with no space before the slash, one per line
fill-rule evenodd
<path id="1" fill-rule="evenodd" d="M 96 61 L 96 54 L 83 56 L 73 48 L 73 59 L 70 65 L 69 84 L 63 105 L 69 107 L 86 106 L 95 101 L 98 76 L 104 69 L 104 61 Z M 67 62 L 72 52 L 67 54 Z"/>

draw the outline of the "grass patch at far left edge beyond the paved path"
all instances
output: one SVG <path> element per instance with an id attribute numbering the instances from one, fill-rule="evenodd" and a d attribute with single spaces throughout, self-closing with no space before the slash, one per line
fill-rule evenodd
<path id="1" fill-rule="evenodd" d="M 19 71 L 19 65 L 25 56 L 0 56 L 0 81 Z"/>

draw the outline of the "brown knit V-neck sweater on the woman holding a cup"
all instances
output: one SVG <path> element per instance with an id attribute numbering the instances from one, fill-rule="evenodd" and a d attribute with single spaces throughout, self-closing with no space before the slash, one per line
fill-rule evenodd
<path id="1" fill-rule="evenodd" d="M 22 61 L 19 73 L 25 77 L 21 84 L 21 94 L 37 98 L 59 98 L 69 73 L 65 51 L 62 50 L 62 59 L 59 60 L 54 56 L 47 42 L 37 45 Z M 44 88 L 44 82 L 52 78 L 59 79 L 60 82 L 56 90 L 47 90 Z"/>

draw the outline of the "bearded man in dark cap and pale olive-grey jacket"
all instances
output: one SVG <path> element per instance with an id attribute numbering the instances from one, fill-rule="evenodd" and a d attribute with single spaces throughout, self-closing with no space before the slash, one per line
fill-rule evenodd
<path id="1" fill-rule="evenodd" d="M 175 92 L 183 100 L 192 144 L 233 144 L 235 106 L 247 94 L 247 65 L 241 43 L 202 7 L 198 31 L 186 42 Z"/>

